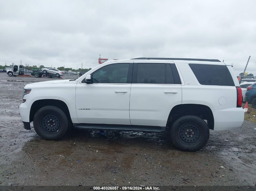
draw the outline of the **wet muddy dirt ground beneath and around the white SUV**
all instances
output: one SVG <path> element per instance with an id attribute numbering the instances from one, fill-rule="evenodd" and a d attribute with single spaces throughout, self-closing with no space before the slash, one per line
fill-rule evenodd
<path id="1" fill-rule="evenodd" d="M 2 186 L 256 184 L 256 124 L 247 120 L 240 129 L 210 131 L 197 152 L 179 151 L 168 135 L 154 133 L 75 130 L 43 140 L 23 128 L 18 107 L 25 84 L 46 80 L 0 73 Z"/>

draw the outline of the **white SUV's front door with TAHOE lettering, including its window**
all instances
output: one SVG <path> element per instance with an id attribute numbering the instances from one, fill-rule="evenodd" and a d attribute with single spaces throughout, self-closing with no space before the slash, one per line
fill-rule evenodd
<path id="1" fill-rule="evenodd" d="M 129 102 L 133 63 L 112 63 L 91 74 L 76 86 L 76 114 L 79 123 L 131 125 Z"/>

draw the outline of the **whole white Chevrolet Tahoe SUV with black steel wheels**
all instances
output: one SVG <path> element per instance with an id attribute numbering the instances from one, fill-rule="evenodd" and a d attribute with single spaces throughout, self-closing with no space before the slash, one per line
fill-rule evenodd
<path id="1" fill-rule="evenodd" d="M 43 93 L 42 93 L 43 92 Z M 197 151 L 209 129 L 238 128 L 242 93 L 232 65 L 219 60 L 111 60 L 76 80 L 27 84 L 19 107 L 25 129 L 45 139 L 68 129 L 168 132 L 173 144 Z"/>

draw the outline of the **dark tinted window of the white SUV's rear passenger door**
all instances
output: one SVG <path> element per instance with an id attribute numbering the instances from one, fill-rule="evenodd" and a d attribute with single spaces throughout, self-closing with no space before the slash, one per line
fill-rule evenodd
<path id="1" fill-rule="evenodd" d="M 134 69 L 137 78 L 135 78 L 132 83 L 181 84 L 175 64 L 137 63 Z"/>

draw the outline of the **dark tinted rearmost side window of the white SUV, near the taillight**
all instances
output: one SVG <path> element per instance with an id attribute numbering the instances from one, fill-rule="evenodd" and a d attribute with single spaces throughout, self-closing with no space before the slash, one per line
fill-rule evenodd
<path id="1" fill-rule="evenodd" d="M 202 85 L 235 86 L 225 65 L 188 64 L 198 82 Z"/>

